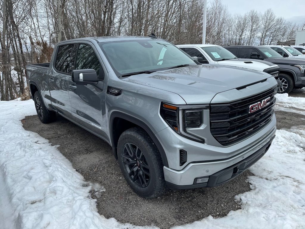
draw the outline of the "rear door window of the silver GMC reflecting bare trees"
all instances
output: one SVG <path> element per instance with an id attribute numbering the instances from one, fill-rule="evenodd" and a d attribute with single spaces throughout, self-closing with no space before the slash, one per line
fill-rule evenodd
<path id="1" fill-rule="evenodd" d="M 59 46 L 55 68 L 57 71 L 71 74 L 74 66 L 77 45 Z"/>

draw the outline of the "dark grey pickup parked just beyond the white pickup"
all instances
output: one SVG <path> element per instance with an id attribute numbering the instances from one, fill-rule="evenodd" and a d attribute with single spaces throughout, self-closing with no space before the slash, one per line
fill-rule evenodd
<path id="1" fill-rule="evenodd" d="M 266 60 L 280 67 L 278 93 L 289 93 L 293 88 L 305 86 L 305 60 L 299 58 L 284 58 L 267 46 L 234 45 L 224 46 L 240 58 Z"/>

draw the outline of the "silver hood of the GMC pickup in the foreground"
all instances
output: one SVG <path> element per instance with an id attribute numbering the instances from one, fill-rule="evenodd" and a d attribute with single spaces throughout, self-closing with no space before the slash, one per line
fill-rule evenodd
<path id="1" fill-rule="evenodd" d="M 176 93 L 186 104 L 209 104 L 217 93 L 269 77 L 269 74 L 260 71 L 204 64 L 132 75 L 123 80 Z"/>

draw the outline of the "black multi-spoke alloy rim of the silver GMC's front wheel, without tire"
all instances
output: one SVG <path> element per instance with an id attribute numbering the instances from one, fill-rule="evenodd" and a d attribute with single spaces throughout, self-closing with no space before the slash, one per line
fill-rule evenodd
<path id="1" fill-rule="evenodd" d="M 133 143 L 126 143 L 123 162 L 130 179 L 139 187 L 147 187 L 150 181 L 149 165 L 142 150 Z"/>

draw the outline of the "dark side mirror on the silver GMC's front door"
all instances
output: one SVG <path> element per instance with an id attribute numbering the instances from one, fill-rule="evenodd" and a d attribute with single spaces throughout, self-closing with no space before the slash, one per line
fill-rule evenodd
<path id="1" fill-rule="evenodd" d="M 72 81 L 77 84 L 97 84 L 99 79 L 94 69 L 72 71 Z"/>

